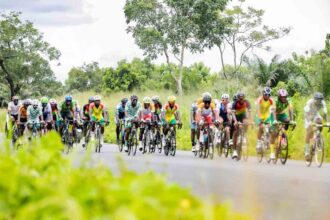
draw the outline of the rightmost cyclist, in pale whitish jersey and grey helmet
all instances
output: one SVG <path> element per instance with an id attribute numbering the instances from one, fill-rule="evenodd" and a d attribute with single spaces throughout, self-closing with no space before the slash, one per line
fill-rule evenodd
<path id="1" fill-rule="evenodd" d="M 305 129 L 306 129 L 306 139 L 305 139 L 305 159 L 310 160 L 309 155 L 309 143 L 313 138 L 313 127 L 312 124 L 322 124 L 322 117 L 320 112 L 322 112 L 323 119 L 327 122 L 327 126 L 330 127 L 329 117 L 327 115 L 328 110 L 326 103 L 324 101 L 324 96 L 320 92 L 314 94 L 314 98 L 308 100 L 306 106 L 304 107 L 305 113 Z"/>

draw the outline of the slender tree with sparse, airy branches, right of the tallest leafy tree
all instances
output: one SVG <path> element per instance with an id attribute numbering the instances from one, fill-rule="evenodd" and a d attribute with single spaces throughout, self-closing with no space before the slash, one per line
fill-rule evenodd
<path id="1" fill-rule="evenodd" d="M 232 8 L 220 13 L 218 18 L 209 21 L 206 24 L 209 30 L 207 39 L 208 46 L 217 47 L 220 51 L 222 73 L 227 79 L 225 54 L 228 51 L 233 54 L 234 70 L 231 73 L 236 73 L 246 59 L 246 54 L 254 49 L 270 50 L 269 46 L 265 44 L 269 41 L 279 39 L 290 32 L 290 28 L 270 28 L 263 25 L 264 10 L 255 9 L 252 7 L 244 7 L 245 0 L 237 0 L 238 4 Z M 223 20 L 227 19 L 225 34 L 222 30 Z"/>

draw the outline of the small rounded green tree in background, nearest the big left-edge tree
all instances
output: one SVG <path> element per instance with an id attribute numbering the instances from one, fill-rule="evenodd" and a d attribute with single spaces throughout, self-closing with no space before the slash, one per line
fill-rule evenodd
<path id="1" fill-rule="evenodd" d="M 94 90 L 100 92 L 103 72 L 97 62 L 83 64 L 81 67 L 73 67 L 69 71 L 69 77 L 65 82 L 67 91 Z"/>

